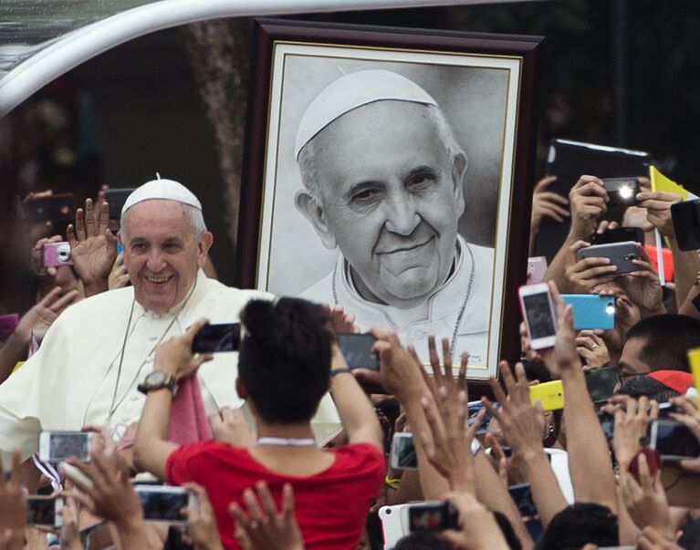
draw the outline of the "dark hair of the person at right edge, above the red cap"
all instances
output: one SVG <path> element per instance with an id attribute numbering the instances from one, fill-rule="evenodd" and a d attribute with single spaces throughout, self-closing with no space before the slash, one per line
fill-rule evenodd
<path id="1" fill-rule="evenodd" d="M 688 371 L 686 353 L 700 346 L 700 320 L 686 315 L 662 314 L 646 317 L 625 335 L 645 340 L 639 358 L 652 370 Z"/>

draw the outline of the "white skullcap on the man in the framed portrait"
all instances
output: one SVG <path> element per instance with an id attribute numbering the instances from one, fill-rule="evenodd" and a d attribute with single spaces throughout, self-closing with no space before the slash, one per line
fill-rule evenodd
<path id="1" fill-rule="evenodd" d="M 294 158 L 298 159 L 299 151 L 333 120 L 362 105 L 386 99 L 437 107 L 428 92 L 398 73 L 378 68 L 350 73 L 323 88 L 309 104 L 299 122 Z"/>

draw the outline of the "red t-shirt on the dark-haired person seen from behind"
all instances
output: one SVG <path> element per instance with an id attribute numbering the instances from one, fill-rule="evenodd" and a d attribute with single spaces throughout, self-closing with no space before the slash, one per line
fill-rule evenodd
<path id="1" fill-rule="evenodd" d="M 246 448 L 217 441 L 188 443 L 172 451 L 165 464 L 168 483 L 203 485 L 214 507 L 219 536 L 226 548 L 239 548 L 229 503 L 242 503 L 245 489 L 264 481 L 279 509 L 282 485 L 294 489 L 294 510 L 304 544 L 324 550 L 355 550 L 367 512 L 381 490 L 384 456 L 369 443 L 346 445 L 329 452 L 335 462 L 308 477 L 267 470 Z"/>

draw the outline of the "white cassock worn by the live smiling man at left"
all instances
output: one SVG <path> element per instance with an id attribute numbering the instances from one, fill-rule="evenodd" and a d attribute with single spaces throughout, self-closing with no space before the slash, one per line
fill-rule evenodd
<path id="1" fill-rule="evenodd" d="M 97 424 L 119 431 L 138 421 L 146 396 L 136 386 L 152 370 L 157 344 L 182 335 L 202 317 L 211 323 L 235 322 L 246 302 L 256 297 L 271 296 L 222 285 L 200 270 L 191 296 L 170 312 L 146 310 L 134 300 L 131 286 L 68 307 L 37 353 L 0 385 L 0 451 L 5 468 L 12 463 L 12 449 L 19 448 L 23 460 L 37 452 L 41 430 L 80 430 Z M 237 352 L 219 353 L 199 369 L 207 413 L 243 404 L 235 392 L 237 362 Z M 319 443 L 340 431 L 329 394 L 321 400 L 312 425 Z"/>

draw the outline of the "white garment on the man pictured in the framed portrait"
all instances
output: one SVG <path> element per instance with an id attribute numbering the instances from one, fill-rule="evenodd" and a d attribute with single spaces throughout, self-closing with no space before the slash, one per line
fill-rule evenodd
<path id="1" fill-rule="evenodd" d="M 355 289 L 350 265 L 342 254 L 334 270 L 301 297 L 327 304 L 340 304 L 356 318 L 360 330 L 391 328 L 403 344 L 413 344 L 427 361 L 428 335 L 448 338 L 454 357 L 469 352 L 471 367 L 484 367 L 488 351 L 494 271 L 494 249 L 467 244 L 457 235 L 457 256 L 453 273 L 427 299 L 412 308 L 375 304 Z M 457 363 L 458 364 L 458 363 Z"/>

